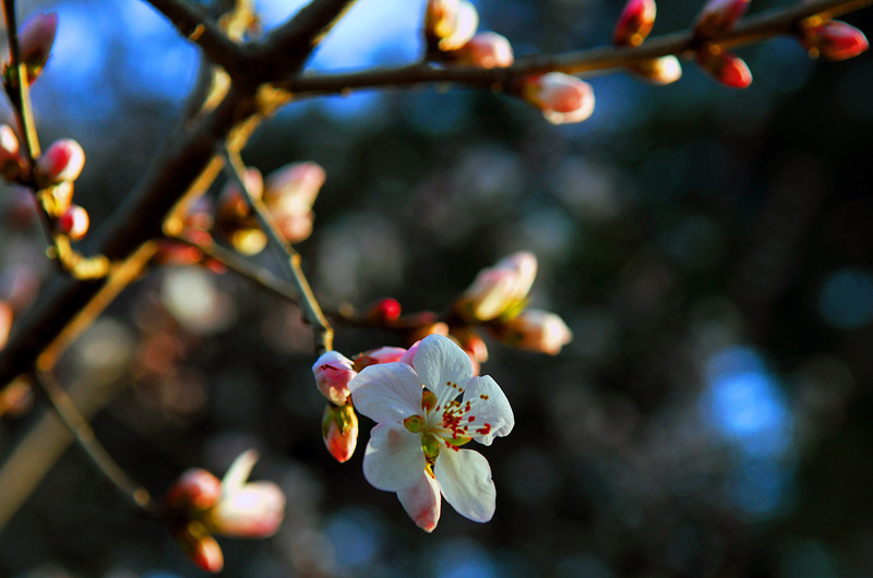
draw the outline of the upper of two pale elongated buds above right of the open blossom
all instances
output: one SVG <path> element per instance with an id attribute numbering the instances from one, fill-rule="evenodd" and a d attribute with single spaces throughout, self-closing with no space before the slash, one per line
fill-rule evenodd
<path id="1" fill-rule="evenodd" d="M 537 257 L 521 251 L 479 272 L 455 309 L 468 321 L 489 321 L 522 304 L 537 275 Z"/>

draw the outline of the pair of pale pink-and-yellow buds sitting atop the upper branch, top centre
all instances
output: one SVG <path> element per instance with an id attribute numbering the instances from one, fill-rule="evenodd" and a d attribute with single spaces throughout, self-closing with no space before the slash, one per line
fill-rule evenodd
<path id="1" fill-rule="evenodd" d="M 510 67 L 512 45 L 493 32 L 479 32 L 479 14 L 467 0 L 428 0 L 424 38 L 433 60 L 482 69 Z"/>

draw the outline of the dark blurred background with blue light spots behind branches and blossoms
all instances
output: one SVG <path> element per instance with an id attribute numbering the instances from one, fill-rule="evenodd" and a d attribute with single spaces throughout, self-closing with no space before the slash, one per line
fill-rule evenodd
<path id="1" fill-rule="evenodd" d="M 609 43 L 623 7 L 474 3 L 480 29 L 516 56 Z M 264 28 L 301 4 L 258 0 Z M 662 2 L 653 35 L 686 27 L 702 4 Z M 60 19 L 33 91 L 40 137 L 84 146 L 76 202 L 96 230 L 180 118 L 198 50 L 142 1 L 21 3 L 40 10 Z M 416 61 L 422 11 L 360 0 L 311 68 Z M 873 32 L 871 11 L 846 20 Z M 418 530 L 362 477 L 364 418 L 356 456 L 336 463 L 299 312 L 229 274 L 153 268 L 58 375 L 105 390 L 97 435 L 155 495 L 188 467 L 220 475 L 260 449 L 253 477 L 282 485 L 286 521 L 271 540 L 223 540 L 225 576 L 871 576 L 873 57 L 812 61 L 791 38 L 737 53 L 755 79 L 745 91 L 692 63 L 667 87 L 598 76 L 596 111 L 577 125 L 430 86 L 291 104 L 243 152 L 264 173 L 326 169 L 299 245 L 326 304 L 394 297 L 440 311 L 499 257 L 539 257 L 533 304 L 575 339 L 554 358 L 489 342 L 482 373 L 517 421 L 482 451 L 498 487 L 490 523 L 444 504 L 436 530 Z M 0 262 L 36 287 L 55 274 L 29 201 L 5 188 L 2 203 Z M 339 326 L 336 347 L 395 339 Z M 0 455 L 43 413 L 4 418 Z M 75 448 L 0 533 L 0 576 L 202 575 Z"/>

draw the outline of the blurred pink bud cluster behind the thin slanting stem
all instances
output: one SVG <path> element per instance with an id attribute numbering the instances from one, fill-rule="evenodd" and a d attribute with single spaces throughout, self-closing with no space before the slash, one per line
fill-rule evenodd
<path id="1" fill-rule="evenodd" d="M 243 173 L 246 189 L 263 202 L 279 232 L 289 243 L 297 243 L 312 233 L 312 204 L 324 184 L 324 169 L 315 162 L 286 165 L 264 180 L 255 168 Z M 247 255 L 260 253 L 266 237 L 249 209 L 243 191 L 227 183 L 218 197 L 216 226 L 234 249 Z"/>

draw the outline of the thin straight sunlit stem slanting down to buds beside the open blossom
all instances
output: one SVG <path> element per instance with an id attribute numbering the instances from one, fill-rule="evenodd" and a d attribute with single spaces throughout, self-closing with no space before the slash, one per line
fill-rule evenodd
<path id="1" fill-rule="evenodd" d="M 282 236 L 278 227 L 270 216 L 267 208 L 263 202 L 251 194 L 246 182 L 243 181 L 242 173 L 246 167 L 239 155 L 231 155 L 227 147 L 222 147 L 222 155 L 225 158 L 225 170 L 227 171 L 231 181 L 239 186 L 242 191 L 242 196 L 249 203 L 249 207 L 254 214 L 258 224 L 266 233 L 267 241 L 273 250 L 282 257 L 282 263 L 287 267 L 290 275 L 290 280 L 294 284 L 297 292 L 300 296 L 300 308 L 303 313 L 303 320 L 312 327 L 315 337 L 315 352 L 323 353 L 333 349 L 334 330 L 331 324 L 322 313 L 315 296 L 307 281 L 303 269 L 300 266 L 300 253 L 298 253 Z"/>

